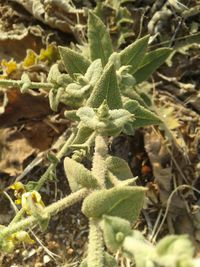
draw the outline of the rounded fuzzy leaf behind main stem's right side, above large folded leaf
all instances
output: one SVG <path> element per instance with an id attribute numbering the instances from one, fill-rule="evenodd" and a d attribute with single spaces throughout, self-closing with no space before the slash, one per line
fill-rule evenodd
<path id="1" fill-rule="evenodd" d="M 118 157 L 109 156 L 106 159 L 106 166 L 119 180 L 123 181 L 133 176 L 128 163 Z"/>

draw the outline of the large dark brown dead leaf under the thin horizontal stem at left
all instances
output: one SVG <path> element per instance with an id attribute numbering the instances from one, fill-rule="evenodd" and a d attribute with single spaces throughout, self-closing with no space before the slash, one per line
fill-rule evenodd
<path id="1" fill-rule="evenodd" d="M 0 129 L 17 126 L 29 146 L 40 151 L 49 149 L 67 124 L 59 119 L 51 121 L 48 100 L 41 95 L 21 94 L 18 89 L 4 93 L 6 101 L 2 100 Z"/>

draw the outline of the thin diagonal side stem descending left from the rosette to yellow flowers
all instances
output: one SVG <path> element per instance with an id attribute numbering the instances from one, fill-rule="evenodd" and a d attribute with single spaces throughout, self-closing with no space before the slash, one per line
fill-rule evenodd
<path id="1" fill-rule="evenodd" d="M 63 147 L 61 148 L 61 150 L 58 152 L 57 154 L 57 159 L 60 160 L 68 151 L 70 144 L 72 143 L 73 139 L 75 137 L 75 134 L 72 133 L 71 136 L 68 138 L 68 140 L 66 141 L 66 143 L 63 145 Z M 35 190 L 39 191 L 40 188 L 43 186 L 43 184 L 46 182 L 46 180 L 49 178 L 49 174 L 56 168 L 56 164 L 51 163 L 49 165 L 49 167 L 47 168 L 47 170 L 45 171 L 45 173 L 41 176 L 41 178 L 39 179 Z M 10 222 L 10 226 L 16 222 L 18 222 L 20 220 L 20 218 L 23 216 L 24 211 L 21 209 L 16 215 L 15 217 L 12 219 L 12 221 Z"/>

